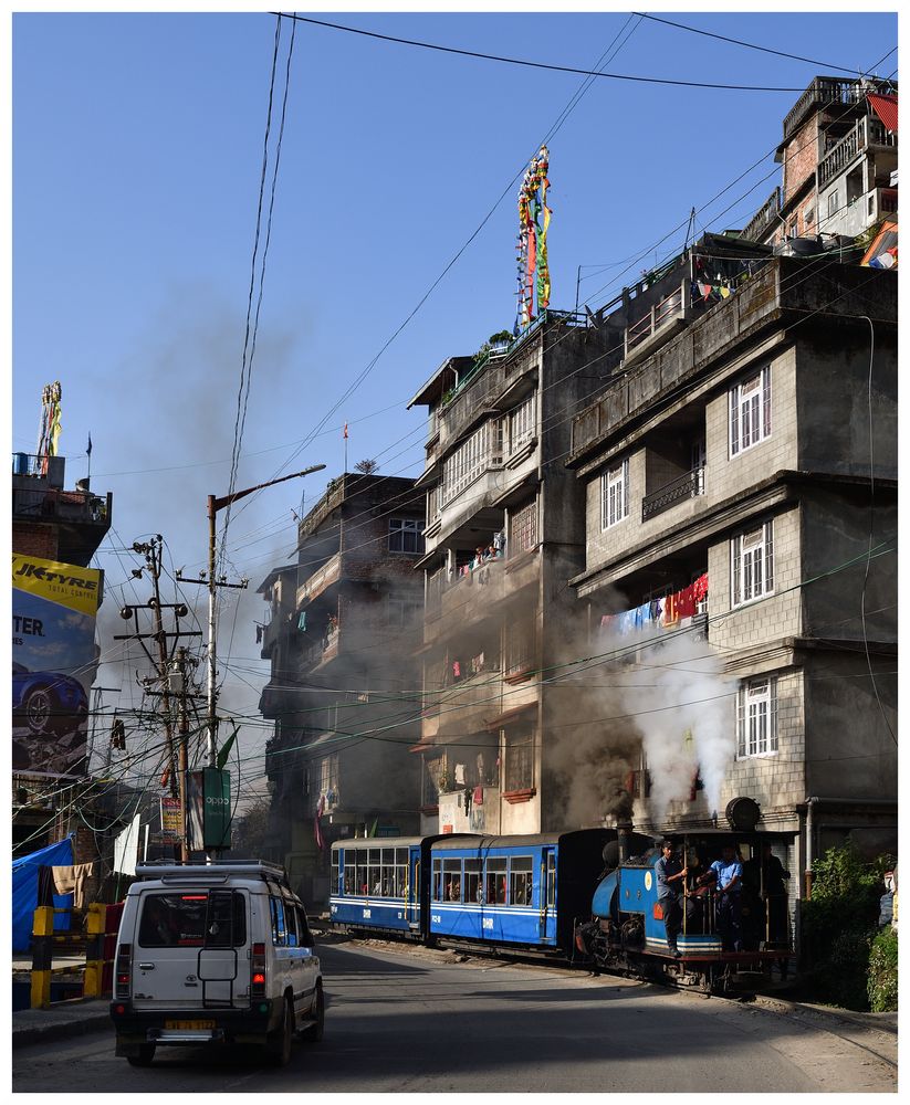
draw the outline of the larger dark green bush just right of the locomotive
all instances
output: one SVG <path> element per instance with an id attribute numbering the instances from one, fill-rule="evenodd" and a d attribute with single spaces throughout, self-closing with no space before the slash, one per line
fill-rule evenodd
<path id="1" fill-rule="evenodd" d="M 812 865 L 812 898 L 802 903 L 806 981 L 816 1001 L 868 1009 L 869 956 L 888 856 L 867 863 L 851 842 Z"/>

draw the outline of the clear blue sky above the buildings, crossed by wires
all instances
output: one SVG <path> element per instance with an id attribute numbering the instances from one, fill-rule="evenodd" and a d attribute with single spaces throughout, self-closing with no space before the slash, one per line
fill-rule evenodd
<path id="1" fill-rule="evenodd" d="M 625 12 L 315 18 L 579 69 L 619 45 L 607 72 L 711 84 L 803 90 L 839 75 L 834 66 L 897 70 L 893 13 L 655 14 L 813 61 Z M 34 451 L 42 387 L 59 379 L 67 484 L 86 473 L 91 432 L 92 486 L 114 493 L 98 556 L 108 614 L 148 593 L 132 589 L 137 561 L 116 550 L 160 533 L 174 565 L 195 573 L 206 495 L 228 490 L 275 23 L 265 12 L 13 17 L 12 446 Z M 290 35 L 283 20 L 280 90 Z M 327 472 L 271 488 L 231 524 L 229 570 L 252 581 L 236 632 L 231 612 L 219 638 L 226 703 L 239 712 L 255 712 L 266 673 L 254 588 L 291 558 L 302 493 L 308 508 L 342 470 L 341 424 L 351 465 L 377 457 L 381 473 L 418 475 L 423 412 L 407 400 L 446 357 L 511 329 L 515 185 L 312 432 L 583 81 L 297 24 L 237 486 L 315 463 Z M 552 305 L 573 307 L 579 265 L 592 266 L 582 301 L 613 298 L 682 246 L 693 207 L 699 230 L 743 225 L 780 183 L 773 150 L 798 95 L 595 81 L 548 143 Z M 104 685 L 119 678 L 119 665 L 102 667 Z"/>

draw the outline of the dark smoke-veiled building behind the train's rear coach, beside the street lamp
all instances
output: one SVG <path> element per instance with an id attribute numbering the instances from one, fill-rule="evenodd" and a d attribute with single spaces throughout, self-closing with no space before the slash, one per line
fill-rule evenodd
<path id="1" fill-rule="evenodd" d="M 412 480 L 345 473 L 300 523 L 297 562 L 259 588 L 274 857 L 312 905 L 332 841 L 418 828 L 422 528 Z"/>

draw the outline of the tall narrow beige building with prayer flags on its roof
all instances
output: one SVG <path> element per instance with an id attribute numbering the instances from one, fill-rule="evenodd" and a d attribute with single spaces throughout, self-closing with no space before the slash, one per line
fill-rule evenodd
<path id="1" fill-rule="evenodd" d="M 607 332 L 547 312 L 522 336 L 446 360 L 429 408 L 421 831 L 561 829 L 557 729 L 567 580 L 584 565 L 573 411 L 611 364 Z"/>

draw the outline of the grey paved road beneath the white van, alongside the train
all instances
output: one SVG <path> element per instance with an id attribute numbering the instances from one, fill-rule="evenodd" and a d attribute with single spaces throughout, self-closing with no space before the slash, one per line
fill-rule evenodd
<path id="1" fill-rule="evenodd" d="M 95 1032 L 13 1053 L 15 1092 L 895 1092 L 840 1036 L 641 983 L 369 944 L 320 949 L 326 1034 L 269 1070 L 238 1049 L 159 1050 L 148 1070 Z"/>

